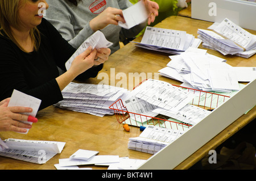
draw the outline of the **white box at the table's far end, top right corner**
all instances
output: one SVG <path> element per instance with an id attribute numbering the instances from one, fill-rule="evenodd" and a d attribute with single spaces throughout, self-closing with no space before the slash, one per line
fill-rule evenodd
<path id="1" fill-rule="evenodd" d="M 192 18 L 220 23 L 230 19 L 242 28 L 256 30 L 256 3 L 243 0 L 192 0 Z"/>

